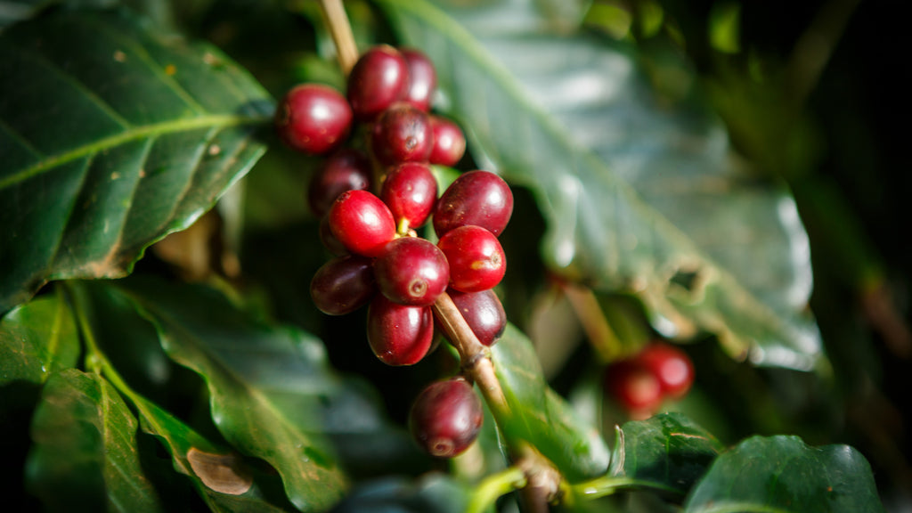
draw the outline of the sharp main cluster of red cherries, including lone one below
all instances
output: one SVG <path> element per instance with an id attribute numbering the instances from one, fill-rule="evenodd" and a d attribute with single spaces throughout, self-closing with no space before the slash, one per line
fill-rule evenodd
<path id="1" fill-rule="evenodd" d="M 444 293 L 482 344 L 506 326 L 492 288 L 506 270 L 497 237 L 513 213 L 513 194 L 497 174 L 471 171 L 438 197 L 430 165 L 460 162 L 465 136 L 430 113 L 435 88 L 436 70 L 423 53 L 381 45 L 358 58 L 345 95 L 303 84 L 275 117 L 286 144 L 326 155 L 308 203 L 334 257 L 316 271 L 311 298 L 329 315 L 367 305 L 368 344 L 389 365 L 412 365 L 429 353 L 435 328 L 441 331 L 433 305 Z M 364 135 L 360 148 L 355 133 Z M 429 221 L 436 244 L 416 231 Z M 482 405 L 462 376 L 432 383 L 409 416 L 419 445 L 437 456 L 460 454 L 481 424 Z"/>

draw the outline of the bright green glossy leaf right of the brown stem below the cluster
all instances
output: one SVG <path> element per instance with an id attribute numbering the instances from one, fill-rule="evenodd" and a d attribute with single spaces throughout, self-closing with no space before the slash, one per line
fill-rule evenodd
<path id="1" fill-rule="evenodd" d="M 544 381 L 532 342 L 512 324 L 492 347 L 492 361 L 510 408 L 498 423 L 504 436 L 534 445 L 571 482 L 604 474 L 605 441 Z"/>

